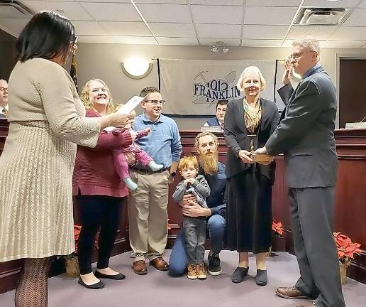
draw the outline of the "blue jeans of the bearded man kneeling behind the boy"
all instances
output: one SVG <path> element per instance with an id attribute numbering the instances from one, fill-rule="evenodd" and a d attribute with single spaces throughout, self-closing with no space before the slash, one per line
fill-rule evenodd
<path id="1" fill-rule="evenodd" d="M 221 215 L 212 215 L 207 221 L 207 230 L 211 240 L 211 249 L 214 254 L 223 248 L 226 220 Z M 187 271 L 187 249 L 184 232 L 181 230 L 175 239 L 169 259 L 170 275 L 181 276 Z"/>

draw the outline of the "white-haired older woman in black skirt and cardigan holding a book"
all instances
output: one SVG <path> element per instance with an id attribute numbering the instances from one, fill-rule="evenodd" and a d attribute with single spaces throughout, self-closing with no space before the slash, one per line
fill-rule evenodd
<path id="1" fill-rule="evenodd" d="M 265 257 L 271 245 L 272 181 L 274 163 L 253 163 L 250 152 L 264 146 L 279 120 L 275 102 L 260 97 L 265 79 L 255 66 L 245 68 L 238 80 L 243 99 L 228 103 L 225 138 L 228 146 L 226 176 L 226 247 L 239 253 L 232 281 L 240 283 L 248 274 L 248 252 L 255 253 L 260 286 L 267 284 Z"/>

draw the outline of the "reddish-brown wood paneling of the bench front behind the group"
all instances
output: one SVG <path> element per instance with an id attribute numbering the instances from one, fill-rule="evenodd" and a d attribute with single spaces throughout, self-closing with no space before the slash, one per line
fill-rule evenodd
<path id="1" fill-rule="evenodd" d="M 8 134 L 9 124 L 0 119 L 0 154 Z M 197 131 L 181 131 L 183 155 L 196 154 L 194 138 Z M 226 144 L 222 134 L 217 134 L 219 140 L 218 156 L 223 163 L 226 161 Z M 338 152 L 338 184 L 336 187 L 335 230 L 350 236 L 353 242 L 362 244 L 362 254 L 355 258 L 348 275 L 366 284 L 366 130 L 337 130 L 336 144 Z M 289 200 L 287 184 L 284 178 L 284 163 L 282 156 L 276 158 L 276 177 L 272 195 L 273 217 L 284 225 L 284 243 L 279 250 L 294 252 L 292 244 L 292 229 L 289 222 Z M 171 195 L 174 186 L 180 181 L 179 175 L 170 188 L 168 215 L 170 232 L 168 247 L 171 247 L 182 223 L 182 213 Z M 78 223 L 77 206 L 74 203 L 74 221 Z M 277 247 L 278 249 L 278 247 Z M 121 217 L 121 225 L 113 249 L 113 254 L 130 250 L 128 241 L 128 210 L 125 207 Z M 95 255 L 94 255 L 95 257 Z M 0 263 L 0 293 L 13 289 L 21 270 L 22 261 Z M 51 276 L 60 274 L 64 269 L 62 260 L 52 264 Z"/>

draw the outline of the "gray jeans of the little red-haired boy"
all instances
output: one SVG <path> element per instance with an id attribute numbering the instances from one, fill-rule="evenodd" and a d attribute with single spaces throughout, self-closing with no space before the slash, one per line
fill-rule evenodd
<path id="1" fill-rule="evenodd" d="M 183 217 L 183 231 L 186 238 L 188 263 L 203 264 L 206 217 Z"/>

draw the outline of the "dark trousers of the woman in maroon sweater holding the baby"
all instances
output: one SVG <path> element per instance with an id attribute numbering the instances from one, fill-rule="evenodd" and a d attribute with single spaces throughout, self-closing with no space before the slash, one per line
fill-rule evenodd
<path id="1" fill-rule="evenodd" d="M 121 210 L 126 198 L 104 195 L 78 195 L 77 205 L 82 230 L 77 243 L 77 257 L 80 274 L 91 273 L 91 254 L 93 252 L 96 232 L 99 232 L 98 269 L 109 266 L 109 257 L 113 248 Z"/>

